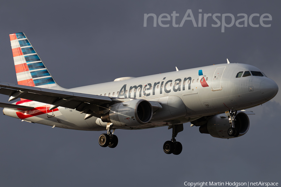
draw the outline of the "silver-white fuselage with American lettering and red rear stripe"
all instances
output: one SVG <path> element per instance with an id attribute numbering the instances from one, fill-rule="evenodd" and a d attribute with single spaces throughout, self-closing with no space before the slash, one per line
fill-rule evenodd
<path id="1" fill-rule="evenodd" d="M 244 74 L 245 71 L 261 72 L 252 65 L 219 64 L 65 91 L 124 98 L 124 101 L 136 98 L 160 102 L 162 108 L 154 108 L 149 123 L 134 127 L 112 127 L 112 129 L 145 129 L 182 124 L 202 116 L 224 113 L 226 110 L 252 108 L 269 101 L 277 94 L 277 84 L 266 76 L 251 74 L 236 78 L 239 72 Z M 58 107 L 49 111 L 49 104 L 30 100 L 21 100 L 14 104 L 31 106 L 34 109 L 16 111 L 4 108 L 3 113 L 28 122 L 67 129 L 106 130 L 107 123 L 102 122 L 100 118 L 91 117 L 84 120 L 86 114 L 74 109 Z M 106 107 L 110 108 L 110 106 Z"/>

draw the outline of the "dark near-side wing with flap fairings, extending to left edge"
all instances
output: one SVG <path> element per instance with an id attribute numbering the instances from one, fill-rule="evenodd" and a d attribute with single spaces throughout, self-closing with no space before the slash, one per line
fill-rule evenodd
<path id="1" fill-rule="evenodd" d="M 52 104 L 50 110 L 61 106 L 76 109 L 81 113 L 91 114 L 92 116 L 96 117 L 99 117 L 99 115 L 103 114 L 100 113 L 101 110 L 105 109 L 105 107 L 101 106 L 102 104 L 112 102 L 112 99 L 106 96 L 45 89 L 2 82 L 0 82 L 0 93 L 10 96 L 9 101 L 15 100 L 17 98 L 24 98 L 41 103 Z"/>

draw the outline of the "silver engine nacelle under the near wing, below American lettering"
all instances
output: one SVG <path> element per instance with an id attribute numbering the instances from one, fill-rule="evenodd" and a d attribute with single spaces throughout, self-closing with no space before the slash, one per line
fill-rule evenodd
<path id="1" fill-rule="evenodd" d="M 111 122 L 118 127 L 136 127 L 148 123 L 153 114 L 151 104 L 144 99 L 133 99 L 111 106 L 101 117 L 103 122 Z"/>

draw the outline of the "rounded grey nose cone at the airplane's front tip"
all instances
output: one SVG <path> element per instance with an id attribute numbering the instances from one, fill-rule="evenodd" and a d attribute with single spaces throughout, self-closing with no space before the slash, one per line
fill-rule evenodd
<path id="1" fill-rule="evenodd" d="M 270 100 L 278 93 L 278 85 L 272 79 L 264 79 L 260 83 L 260 92 L 264 98 Z"/>

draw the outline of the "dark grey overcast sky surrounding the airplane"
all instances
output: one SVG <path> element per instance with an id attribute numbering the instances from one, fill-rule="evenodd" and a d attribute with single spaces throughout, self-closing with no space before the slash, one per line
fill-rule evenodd
<path id="1" fill-rule="evenodd" d="M 9 34 L 24 32 L 54 79 L 65 88 L 118 77 L 245 63 L 258 67 L 280 87 L 280 1 L 1 1 L 0 81 L 17 83 Z M 144 14 L 268 13 L 270 27 L 144 27 Z M 229 18 L 229 17 L 228 17 Z M 226 18 L 229 24 L 230 19 Z M 219 18 L 221 21 L 221 17 Z M 259 18 L 253 18 L 259 24 Z M 242 23 L 240 23 L 242 24 Z M 203 23 L 202 23 L 203 25 Z M 0 96 L 0 102 L 7 102 Z M 98 145 L 101 132 L 51 128 L 1 116 L 0 186 L 184 186 L 184 182 L 281 182 L 279 112 L 281 94 L 249 110 L 242 137 L 219 139 L 184 124 L 179 156 L 166 155 L 171 130 L 116 130 L 116 148 Z"/>

